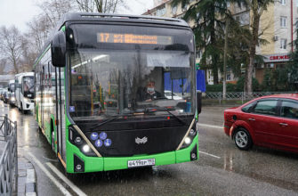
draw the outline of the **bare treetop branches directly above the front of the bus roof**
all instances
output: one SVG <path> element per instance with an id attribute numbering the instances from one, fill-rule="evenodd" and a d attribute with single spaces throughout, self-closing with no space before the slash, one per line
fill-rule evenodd
<path id="1" fill-rule="evenodd" d="M 120 8 L 128 9 L 125 0 L 76 0 L 81 12 L 115 13 Z"/>

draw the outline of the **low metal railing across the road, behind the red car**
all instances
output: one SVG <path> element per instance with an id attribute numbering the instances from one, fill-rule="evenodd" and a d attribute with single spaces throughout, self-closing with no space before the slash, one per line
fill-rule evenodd
<path id="1" fill-rule="evenodd" d="M 254 98 L 258 98 L 265 95 L 270 94 L 297 94 L 298 92 L 253 92 L 251 95 L 246 94 L 245 92 L 227 92 L 226 100 L 240 100 L 243 102 L 253 100 Z M 207 100 L 218 100 L 221 102 L 223 100 L 222 92 L 208 92 L 205 93 L 203 99 Z"/>

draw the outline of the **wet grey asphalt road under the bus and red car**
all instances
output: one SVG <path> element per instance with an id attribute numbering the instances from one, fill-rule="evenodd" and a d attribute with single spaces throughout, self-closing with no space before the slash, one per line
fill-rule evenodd
<path id="1" fill-rule="evenodd" d="M 298 154 L 259 147 L 239 151 L 223 134 L 223 110 L 224 107 L 203 108 L 199 122 L 213 127 L 199 127 L 201 152 L 197 161 L 69 179 L 87 195 L 298 195 Z M 36 159 L 59 184 L 76 195 L 46 165 L 51 162 L 64 174 L 44 135 L 38 131 L 34 116 L 21 115 L 18 109 L 0 102 L 0 114 L 4 113 L 18 122 L 19 155 L 35 166 L 38 195 L 62 195 L 62 192 L 45 176 Z"/>

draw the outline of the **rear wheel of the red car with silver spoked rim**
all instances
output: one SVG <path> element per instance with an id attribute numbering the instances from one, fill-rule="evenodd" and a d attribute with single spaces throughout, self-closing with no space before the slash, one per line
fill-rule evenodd
<path id="1" fill-rule="evenodd" d="M 243 128 L 239 127 L 236 130 L 236 133 L 234 135 L 234 141 L 238 149 L 240 150 L 249 150 L 253 145 L 252 137 L 249 135 L 248 131 Z"/>

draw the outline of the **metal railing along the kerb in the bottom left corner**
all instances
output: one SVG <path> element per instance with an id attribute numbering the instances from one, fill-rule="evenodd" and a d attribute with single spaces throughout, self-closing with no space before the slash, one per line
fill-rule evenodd
<path id="1" fill-rule="evenodd" d="M 0 157 L 0 195 L 12 195 L 18 180 L 17 122 L 7 115 L 0 116 L 0 143 L 5 143 Z"/>

